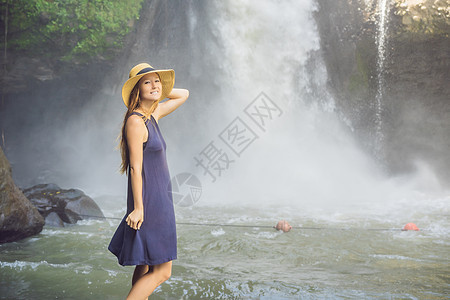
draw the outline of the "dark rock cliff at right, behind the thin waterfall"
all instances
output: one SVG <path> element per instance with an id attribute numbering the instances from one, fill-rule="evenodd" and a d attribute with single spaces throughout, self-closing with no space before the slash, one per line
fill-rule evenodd
<path id="1" fill-rule="evenodd" d="M 380 156 L 386 167 L 392 173 L 407 172 L 422 161 L 448 182 L 448 3 L 396 0 L 388 6 L 381 72 L 379 2 L 318 1 L 316 19 L 337 107 L 351 120 L 361 143 L 376 148 L 376 96 L 382 76 Z"/>

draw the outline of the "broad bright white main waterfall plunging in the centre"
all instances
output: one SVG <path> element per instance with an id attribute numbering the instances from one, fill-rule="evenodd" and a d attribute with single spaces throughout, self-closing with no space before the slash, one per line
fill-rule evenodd
<path id="1" fill-rule="evenodd" d="M 223 1 L 210 7 L 215 39 L 198 42 L 221 45 L 216 47 L 222 49 L 216 60 L 221 72 L 212 78 L 222 88 L 208 99 L 211 118 L 194 130 L 207 130 L 194 155 L 213 141 L 233 162 L 215 181 L 202 169 L 190 169 L 204 186 L 199 204 L 336 209 L 355 208 L 365 202 L 361 197 L 387 199 L 380 194 L 385 191 L 377 167 L 356 146 L 324 92 L 327 72 L 315 10 L 313 0 Z M 265 131 L 244 111 L 261 92 L 282 111 Z M 219 138 L 237 117 L 257 135 L 239 155 Z"/>

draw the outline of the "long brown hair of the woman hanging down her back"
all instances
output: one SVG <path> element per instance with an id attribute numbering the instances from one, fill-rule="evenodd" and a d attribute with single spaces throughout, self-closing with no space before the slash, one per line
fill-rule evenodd
<path id="1" fill-rule="evenodd" d="M 159 75 L 158 75 L 159 76 Z M 140 107 L 141 104 L 141 98 L 139 97 L 139 82 L 136 83 L 133 90 L 130 93 L 130 99 L 128 101 L 128 109 L 125 113 L 125 116 L 123 118 L 123 124 L 122 124 L 122 130 L 119 135 L 119 148 L 120 148 L 120 155 L 122 156 L 122 163 L 120 164 L 120 173 L 121 174 L 127 174 L 128 173 L 128 167 L 130 166 L 130 153 L 128 150 L 128 143 L 127 143 L 127 137 L 126 137 L 126 130 L 125 125 L 127 124 L 128 118 L 131 116 L 131 114 Z M 158 106 L 159 101 L 155 101 L 153 105 L 150 108 L 150 114 L 152 114 L 156 107 Z M 144 121 L 147 120 L 147 116 L 144 116 Z"/>

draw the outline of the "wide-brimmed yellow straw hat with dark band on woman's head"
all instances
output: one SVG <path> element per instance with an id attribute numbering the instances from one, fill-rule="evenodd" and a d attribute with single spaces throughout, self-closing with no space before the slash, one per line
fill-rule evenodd
<path id="1" fill-rule="evenodd" d="M 150 73 L 158 73 L 159 78 L 161 79 L 162 91 L 161 98 L 159 98 L 158 101 L 167 98 L 167 96 L 170 94 L 175 82 L 175 71 L 172 69 L 158 70 L 147 63 L 141 63 L 131 69 L 129 79 L 122 87 L 122 99 L 123 103 L 125 103 L 127 107 L 130 100 L 130 94 L 134 86 L 138 83 L 142 76 Z"/>

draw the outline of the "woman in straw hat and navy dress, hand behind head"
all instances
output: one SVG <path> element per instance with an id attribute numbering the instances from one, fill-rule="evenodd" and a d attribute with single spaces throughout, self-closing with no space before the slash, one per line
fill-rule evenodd
<path id="1" fill-rule="evenodd" d="M 142 63 L 131 69 L 122 88 L 128 108 L 120 141 L 121 172 L 128 173 L 127 213 L 108 249 L 119 264 L 136 265 L 127 299 L 147 298 L 169 279 L 177 258 L 166 143 L 158 127 L 158 120 L 189 97 L 188 90 L 173 88 L 174 78 L 173 70 Z"/>

